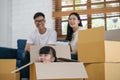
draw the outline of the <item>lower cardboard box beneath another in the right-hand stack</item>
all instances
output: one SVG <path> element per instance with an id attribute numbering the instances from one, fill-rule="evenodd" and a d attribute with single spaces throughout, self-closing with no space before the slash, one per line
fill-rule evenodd
<path id="1" fill-rule="evenodd" d="M 120 63 L 85 63 L 87 80 L 120 80 Z"/>

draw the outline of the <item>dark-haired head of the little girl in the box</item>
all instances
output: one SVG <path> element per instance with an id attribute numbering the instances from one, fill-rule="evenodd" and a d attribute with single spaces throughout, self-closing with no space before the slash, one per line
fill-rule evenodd
<path id="1" fill-rule="evenodd" d="M 55 62 L 57 60 L 56 51 L 50 46 L 44 46 L 39 51 L 39 61 L 43 63 Z"/>

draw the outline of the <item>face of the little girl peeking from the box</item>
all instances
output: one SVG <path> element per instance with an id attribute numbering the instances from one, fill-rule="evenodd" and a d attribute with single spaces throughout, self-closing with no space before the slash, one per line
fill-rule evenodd
<path id="1" fill-rule="evenodd" d="M 51 54 L 40 54 L 39 61 L 43 63 L 54 62 L 55 58 Z"/>

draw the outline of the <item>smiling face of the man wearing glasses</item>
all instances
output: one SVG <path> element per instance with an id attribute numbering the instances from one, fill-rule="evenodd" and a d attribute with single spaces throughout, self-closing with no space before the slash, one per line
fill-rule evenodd
<path id="1" fill-rule="evenodd" d="M 36 27 L 41 30 L 42 28 L 45 27 L 45 19 L 43 16 L 39 16 L 37 18 L 34 19 L 35 25 Z"/>

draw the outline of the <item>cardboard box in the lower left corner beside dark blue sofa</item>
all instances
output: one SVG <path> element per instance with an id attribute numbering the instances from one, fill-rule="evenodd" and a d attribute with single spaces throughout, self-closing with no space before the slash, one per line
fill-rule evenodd
<path id="1" fill-rule="evenodd" d="M 0 80 L 20 80 L 20 74 L 11 71 L 16 69 L 15 59 L 0 59 Z"/>

